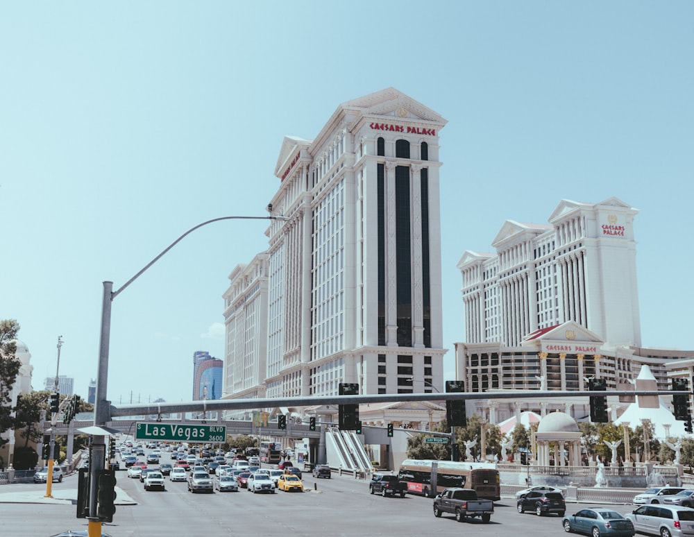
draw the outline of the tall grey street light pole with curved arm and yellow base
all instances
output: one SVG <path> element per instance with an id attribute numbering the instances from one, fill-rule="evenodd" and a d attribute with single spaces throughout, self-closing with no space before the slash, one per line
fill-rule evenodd
<path id="1" fill-rule="evenodd" d="M 120 289 L 113 291 L 113 282 L 103 282 L 103 296 L 101 302 L 101 336 L 99 339 L 99 364 L 96 373 L 96 398 L 94 400 L 94 427 L 100 427 L 103 431 L 104 425 L 110 421 L 111 403 L 106 399 L 106 391 L 108 388 L 108 350 L 110 345 L 111 336 L 111 303 L 113 299 L 116 298 L 122 291 L 126 289 L 131 283 L 133 283 L 139 276 L 144 273 L 149 267 L 158 262 L 164 254 L 166 254 L 171 248 L 174 248 L 176 244 L 182 241 L 187 235 L 194 232 L 195 230 L 202 228 L 203 225 L 208 225 L 210 223 L 219 222 L 221 220 L 289 220 L 287 216 L 273 215 L 270 216 L 221 216 L 220 218 L 215 218 L 212 220 L 199 223 L 198 225 L 190 228 L 183 235 L 178 237 L 174 242 L 169 244 L 167 248 L 164 248 L 162 252 L 146 264 L 137 274 L 130 278 Z M 95 452 L 101 455 L 105 454 L 105 434 L 94 434 L 92 447 L 96 448 Z M 90 460 L 89 468 L 89 525 L 87 536 L 88 537 L 101 537 L 101 520 L 96 515 L 96 493 L 97 493 L 97 480 L 99 472 L 103 470 L 104 467 L 104 457 L 97 456 Z"/>

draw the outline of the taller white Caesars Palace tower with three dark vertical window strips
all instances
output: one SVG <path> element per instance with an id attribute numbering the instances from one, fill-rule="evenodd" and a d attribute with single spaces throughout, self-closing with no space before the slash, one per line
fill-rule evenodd
<path id="1" fill-rule="evenodd" d="M 288 217 L 224 294 L 227 397 L 443 391 L 436 112 L 389 88 L 285 137 Z"/>

